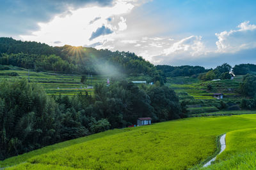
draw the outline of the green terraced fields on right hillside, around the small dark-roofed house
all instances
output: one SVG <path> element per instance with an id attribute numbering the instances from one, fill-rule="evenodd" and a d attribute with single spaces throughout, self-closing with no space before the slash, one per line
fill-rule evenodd
<path id="1" fill-rule="evenodd" d="M 220 107 L 216 106 L 217 99 L 213 97 L 215 93 L 223 94 L 223 101 L 241 100 L 243 96 L 238 94 L 238 88 L 242 80 L 243 76 L 240 75 L 236 76 L 234 80 L 218 81 L 200 81 L 198 78 L 180 76 L 167 78 L 166 84 L 175 90 L 180 101 L 186 100 L 190 114 L 198 114 L 220 111 Z M 194 104 L 200 104 L 200 106 L 189 106 Z"/>

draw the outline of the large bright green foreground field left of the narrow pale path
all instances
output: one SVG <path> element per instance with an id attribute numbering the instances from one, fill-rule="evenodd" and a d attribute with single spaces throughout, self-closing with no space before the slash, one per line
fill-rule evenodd
<path id="1" fill-rule="evenodd" d="M 256 115 L 186 118 L 113 133 L 107 131 L 98 134 L 99 138 L 76 139 L 82 141 L 77 145 L 69 145 L 67 141 L 52 152 L 45 153 L 43 148 L 24 159 L 20 155 L 1 163 L 13 165 L 15 161 L 26 161 L 10 169 L 188 169 L 214 153 L 216 136 L 253 128 L 255 124 Z M 54 145 L 49 147 L 54 149 Z"/>

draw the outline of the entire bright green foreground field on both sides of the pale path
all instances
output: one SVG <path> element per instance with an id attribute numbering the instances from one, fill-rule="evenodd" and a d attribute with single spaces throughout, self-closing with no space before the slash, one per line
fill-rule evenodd
<path id="1" fill-rule="evenodd" d="M 200 169 L 216 152 L 217 136 L 227 133 L 226 150 L 207 169 L 255 169 L 255 126 L 256 115 L 184 118 L 93 134 L 0 165 L 6 169 Z"/>

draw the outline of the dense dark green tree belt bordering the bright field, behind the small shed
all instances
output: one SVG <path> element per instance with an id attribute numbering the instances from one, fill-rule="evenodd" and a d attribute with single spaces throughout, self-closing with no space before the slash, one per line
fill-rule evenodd
<path id="1" fill-rule="evenodd" d="M 186 117 L 175 92 L 120 81 L 98 84 L 95 95 L 47 96 L 42 87 L 17 80 L 0 83 L 0 159 L 113 128 Z M 183 112 L 182 112 L 183 111 Z"/>

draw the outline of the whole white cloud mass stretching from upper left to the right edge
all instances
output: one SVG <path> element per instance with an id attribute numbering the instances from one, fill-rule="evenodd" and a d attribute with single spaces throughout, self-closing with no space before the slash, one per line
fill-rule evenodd
<path id="1" fill-rule="evenodd" d="M 249 22 L 241 23 L 235 30 L 216 33 L 218 41 L 214 50 L 212 46 L 205 46 L 199 35 L 163 36 L 164 29 L 161 24 L 157 24 L 156 29 L 156 20 L 138 17 L 141 11 L 136 7 L 147 1 L 115 0 L 112 6 L 68 9 L 68 15 L 58 15 L 51 22 L 40 23 L 40 31 L 21 37 L 49 45 L 84 45 L 134 52 L 154 64 L 177 61 L 186 64 L 256 48 L 256 25 Z"/>

